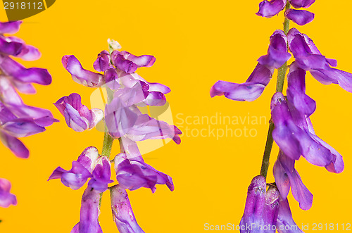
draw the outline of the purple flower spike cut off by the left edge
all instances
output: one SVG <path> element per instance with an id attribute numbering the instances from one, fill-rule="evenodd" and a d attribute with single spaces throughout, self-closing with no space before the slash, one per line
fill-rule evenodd
<path id="1" fill-rule="evenodd" d="M 18 92 L 34 94 L 32 83 L 48 85 L 51 75 L 42 68 L 25 68 L 12 57 L 25 61 L 39 59 L 41 53 L 14 34 L 21 21 L 0 23 L 0 139 L 19 158 L 28 158 L 30 151 L 19 137 L 44 132 L 45 127 L 57 121 L 49 110 L 27 106 Z M 17 92 L 18 91 L 18 92 Z M 0 206 L 15 205 L 15 196 L 9 194 L 11 184 L 0 179 Z"/>

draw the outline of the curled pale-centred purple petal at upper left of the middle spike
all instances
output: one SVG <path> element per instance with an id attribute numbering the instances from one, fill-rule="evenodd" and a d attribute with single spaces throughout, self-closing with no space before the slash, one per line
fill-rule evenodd
<path id="1" fill-rule="evenodd" d="M 65 55 L 61 61 L 63 67 L 72 75 L 75 82 L 87 87 L 100 87 L 104 84 L 103 75 L 84 70 L 75 56 Z"/>

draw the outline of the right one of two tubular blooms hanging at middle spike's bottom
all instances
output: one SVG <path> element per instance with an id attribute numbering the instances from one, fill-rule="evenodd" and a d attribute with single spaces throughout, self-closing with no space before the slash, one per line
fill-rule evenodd
<path id="1" fill-rule="evenodd" d="M 110 194 L 113 220 L 118 231 L 120 233 L 144 233 L 134 217 L 126 190 L 121 185 L 115 185 L 111 187 Z"/>

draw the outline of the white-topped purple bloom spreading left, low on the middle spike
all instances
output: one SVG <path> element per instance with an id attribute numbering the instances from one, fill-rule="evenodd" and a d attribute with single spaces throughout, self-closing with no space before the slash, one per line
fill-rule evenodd
<path id="1" fill-rule="evenodd" d="M 56 168 L 49 180 L 61 179 L 61 182 L 71 189 L 80 189 L 89 178 L 88 187 L 103 192 L 108 189 L 111 176 L 110 161 L 106 156 L 100 156 L 98 150 L 91 146 L 84 149 L 76 161 L 73 161 L 71 170 Z"/>

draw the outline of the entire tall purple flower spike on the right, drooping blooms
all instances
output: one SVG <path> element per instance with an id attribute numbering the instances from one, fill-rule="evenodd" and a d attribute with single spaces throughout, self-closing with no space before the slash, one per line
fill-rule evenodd
<path id="1" fill-rule="evenodd" d="M 313 2 L 314 0 L 263 1 L 260 3 L 260 11 L 257 14 L 271 17 L 282 11 L 286 5 L 287 9 L 290 6 L 301 8 L 308 7 Z M 296 22 L 296 19 L 291 18 L 294 14 L 297 14 L 298 18 L 303 20 L 306 17 L 305 12 L 290 9 L 285 12 L 285 22 L 287 19 Z M 309 163 L 325 167 L 329 172 L 339 173 L 344 170 L 342 156 L 332 146 L 320 139 L 313 130 L 310 115 L 315 112 L 316 103 L 306 94 L 306 73 L 309 71 L 322 84 L 339 84 L 340 87 L 348 92 L 352 92 L 352 74 L 334 68 L 337 66 L 337 61 L 323 56 L 313 43 L 313 40 L 306 34 L 299 32 L 296 28 L 291 28 L 291 30 L 287 28 L 287 33 L 282 30 L 276 30 L 272 34 L 268 53 L 258 58 L 258 64 L 246 82 L 237 84 L 218 81 L 210 89 L 210 96 L 225 95 L 225 97 L 232 100 L 254 101 L 263 93 L 275 69 L 280 69 L 279 73 L 282 73 L 282 80 L 284 80 L 287 61 L 291 58 L 289 51 L 291 51 L 294 61 L 289 65 L 287 96 L 284 96 L 282 92 L 275 93 L 272 96 L 270 107 L 271 121 L 274 126 L 272 139 L 279 146 L 279 156 L 273 168 L 275 189 L 279 193 L 280 200 L 277 202 L 279 203 L 277 204 L 279 206 L 278 213 L 284 213 L 285 216 L 289 216 L 290 221 L 294 224 L 293 220 L 291 220 L 287 201 L 289 190 L 291 189 L 291 193 L 294 199 L 298 201 L 301 209 L 308 210 L 313 203 L 313 194 L 303 184 L 300 175 L 294 168 L 295 161 L 303 156 Z M 265 184 L 264 177 L 263 179 L 256 177 L 252 181 L 242 223 L 254 221 L 257 224 L 262 224 L 263 222 L 260 221 L 263 221 L 263 218 L 273 216 L 272 212 L 269 213 L 263 207 L 265 200 L 271 199 L 272 195 L 272 192 L 269 191 L 270 189 L 265 194 Z M 254 189 L 260 190 L 259 196 L 257 191 L 253 191 Z M 257 202 L 258 200 L 260 201 Z M 263 206 L 254 208 L 251 203 L 256 205 L 262 203 Z M 274 209 L 270 209 L 270 211 L 274 211 Z M 277 222 L 282 222 L 279 219 L 280 216 Z M 270 223 L 272 225 L 273 221 L 276 222 L 276 218 L 270 217 L 270 220 L 264 221 L 266 221 L 265 224 Z M 301 232 L 301 230 L 297 229 L 296 232 Z"/>

